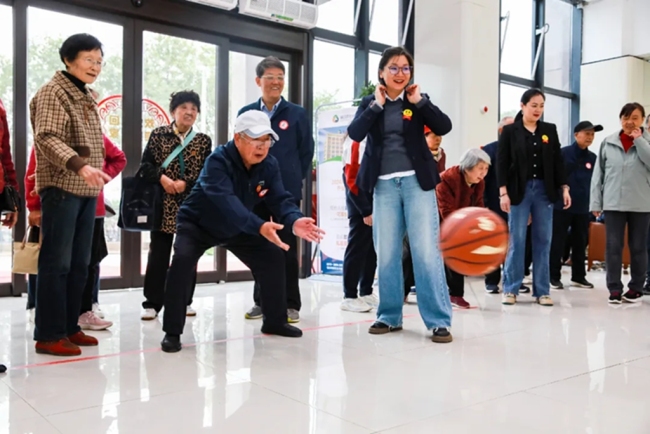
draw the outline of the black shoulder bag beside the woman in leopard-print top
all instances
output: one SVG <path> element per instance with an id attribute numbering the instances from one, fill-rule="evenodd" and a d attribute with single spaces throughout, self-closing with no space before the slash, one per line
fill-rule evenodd
<path id="1" fill-rule="evenodd" d="M 157 231 L 162 224 L 162 218 L 162 186 L 147 180 L 142 168 L 135 176 L 122 178 L 122 198 L 117 226 L 128 232 Z"/>

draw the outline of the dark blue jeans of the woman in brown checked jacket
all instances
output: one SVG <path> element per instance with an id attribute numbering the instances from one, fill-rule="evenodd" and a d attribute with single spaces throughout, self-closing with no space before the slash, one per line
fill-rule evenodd
<path id="1" fill-rule="evenodd" d="M 57 341 L 80 331 L 81 294 L 86 285 L 96 198 L 59 188 L 41 196 L 41 234 L 36 282 L 34 340 Z"/>

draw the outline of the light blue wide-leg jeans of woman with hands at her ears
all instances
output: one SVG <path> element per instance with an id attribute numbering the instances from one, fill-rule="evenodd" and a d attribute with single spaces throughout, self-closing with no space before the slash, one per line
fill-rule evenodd
<path id="1" fill-rule="evenodd" d="M 440 221 L 434 190 L 423 191 L 416 177 L 378 180 L 373 204 L 373 238 L 379 269 L 377 321 L 402 325 L 404 275 L 402 243 L 409 233 L 418 308 L 428 329 L 451 326 L 451 302 L 438 247 Z"/>

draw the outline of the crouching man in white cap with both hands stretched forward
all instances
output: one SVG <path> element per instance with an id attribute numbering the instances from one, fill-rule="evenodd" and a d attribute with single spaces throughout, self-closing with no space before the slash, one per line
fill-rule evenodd
<path id="1" fill-rule="evenodd" d="M 165 288 L 165 352 L 181 349 L 193 270 L 206 250 L 222 246 L 237 256 L 257 278 L 264 312 L 262 333 L 300 337 L 287 324 L 283 228 L 307 241 L 318 242 L 322 231 L 303 217 L 282 185 L 277 160 L 268 155 L 278 135 L 260 111 L 235 121 L 234 140 L 218 147 L 206 160 L 189 197 L 178 212 L 174 257 Z M 252 212 L 265 202 L 276 220 L 264 221 Z"/>

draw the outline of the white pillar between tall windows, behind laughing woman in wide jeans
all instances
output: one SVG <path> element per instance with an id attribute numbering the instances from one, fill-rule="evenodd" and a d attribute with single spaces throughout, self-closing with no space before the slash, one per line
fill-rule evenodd
<path id="1" fill-rule="evenodd" d="M 413 17 L 415 81 L 454 125 L 442 144 L 450 167 L 497 136 L 499 2 L 418 1 Z"/>

